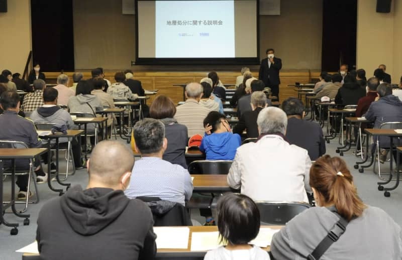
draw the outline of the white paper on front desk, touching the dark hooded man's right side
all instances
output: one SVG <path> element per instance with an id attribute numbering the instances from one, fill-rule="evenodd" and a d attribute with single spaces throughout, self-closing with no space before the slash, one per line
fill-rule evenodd
<path id="1" fill-rule="evenodd" d="M 157 248 L 184 248 L 188 247 L 188 227 L 154 227 Z"/>

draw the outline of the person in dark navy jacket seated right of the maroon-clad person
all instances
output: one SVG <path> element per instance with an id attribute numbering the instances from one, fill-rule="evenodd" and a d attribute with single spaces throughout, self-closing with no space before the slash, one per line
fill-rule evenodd
<path id="1" fill-rule="evenodd" d="M 373 128 L 379 128 L 385 122 L 402 122 L 402 101 L 392 95 L 392 87 L 389 83 L 382 83 L 377 87 L 377 101 L 370 104 L 367 112 L 363 115 L 367 120 L 374 122 Z M 374 142 L 377 137 L 373 138 Z M 380 148 L 389 148 L 389 137 L 380 137 Z M 393 145 L 398 145 L 397 139 L 393 140 Z M 396 151 L 393 151 L 396 161 Z M 402 161 L 401 161 L 402 162 Z"/>

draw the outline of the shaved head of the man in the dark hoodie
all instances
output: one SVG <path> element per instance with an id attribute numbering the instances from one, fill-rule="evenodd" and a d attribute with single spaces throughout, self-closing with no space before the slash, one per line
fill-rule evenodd
<path id="1" fill-rule="evenodd" d="M 107 161 L 105 155 L 108 155 Z M 125 173 L 131 172 L 133 166 L 133 153 L 128 147 L 116 141 L 102 141 L 95 146 L 89 160 L 89 182 L 96 179 L 96 182 L 102 182 L 105 186 L 116 186 Z"/>

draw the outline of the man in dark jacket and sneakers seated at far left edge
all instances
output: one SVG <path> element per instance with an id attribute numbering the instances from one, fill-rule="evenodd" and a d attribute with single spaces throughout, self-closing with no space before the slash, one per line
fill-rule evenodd
<path id="1" fill-rule="evenodd" d="M 18 115 L 20 110 L 19 94 L 16 91 L 3 92 L 0 104 L 4 110 L 0 115 L 0 125 L 2 125 L 0 127 L 0 140 L 24 142 L 28 148 L 41 148 L 42 142 L 38 137 L 34 123 Z M 34 167 L 37 182 L 46 182 L 47 174 L 42 170 L 40 158 L 35 159 Z M 28 162 L 26 160 L 16 160 L 16 169 L 28 170 Z M 31 197 L 33 195 L 32 192 L 29 195 L 27 194 L 28 175 L 18 175 L 16 184 L 20 188 L 17 195 L 19 200 L 25 200 L 27 196 Z"/>

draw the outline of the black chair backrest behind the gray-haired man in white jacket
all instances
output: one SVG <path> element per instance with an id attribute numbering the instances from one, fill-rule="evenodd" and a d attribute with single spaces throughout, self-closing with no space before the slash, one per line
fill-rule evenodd
<path id="1" fill-rule="evenodd" d="M 256 201 L 260 210 L 261 224 L 284 225 L 298 213 L 310 208 L 305 202 Z"/>

